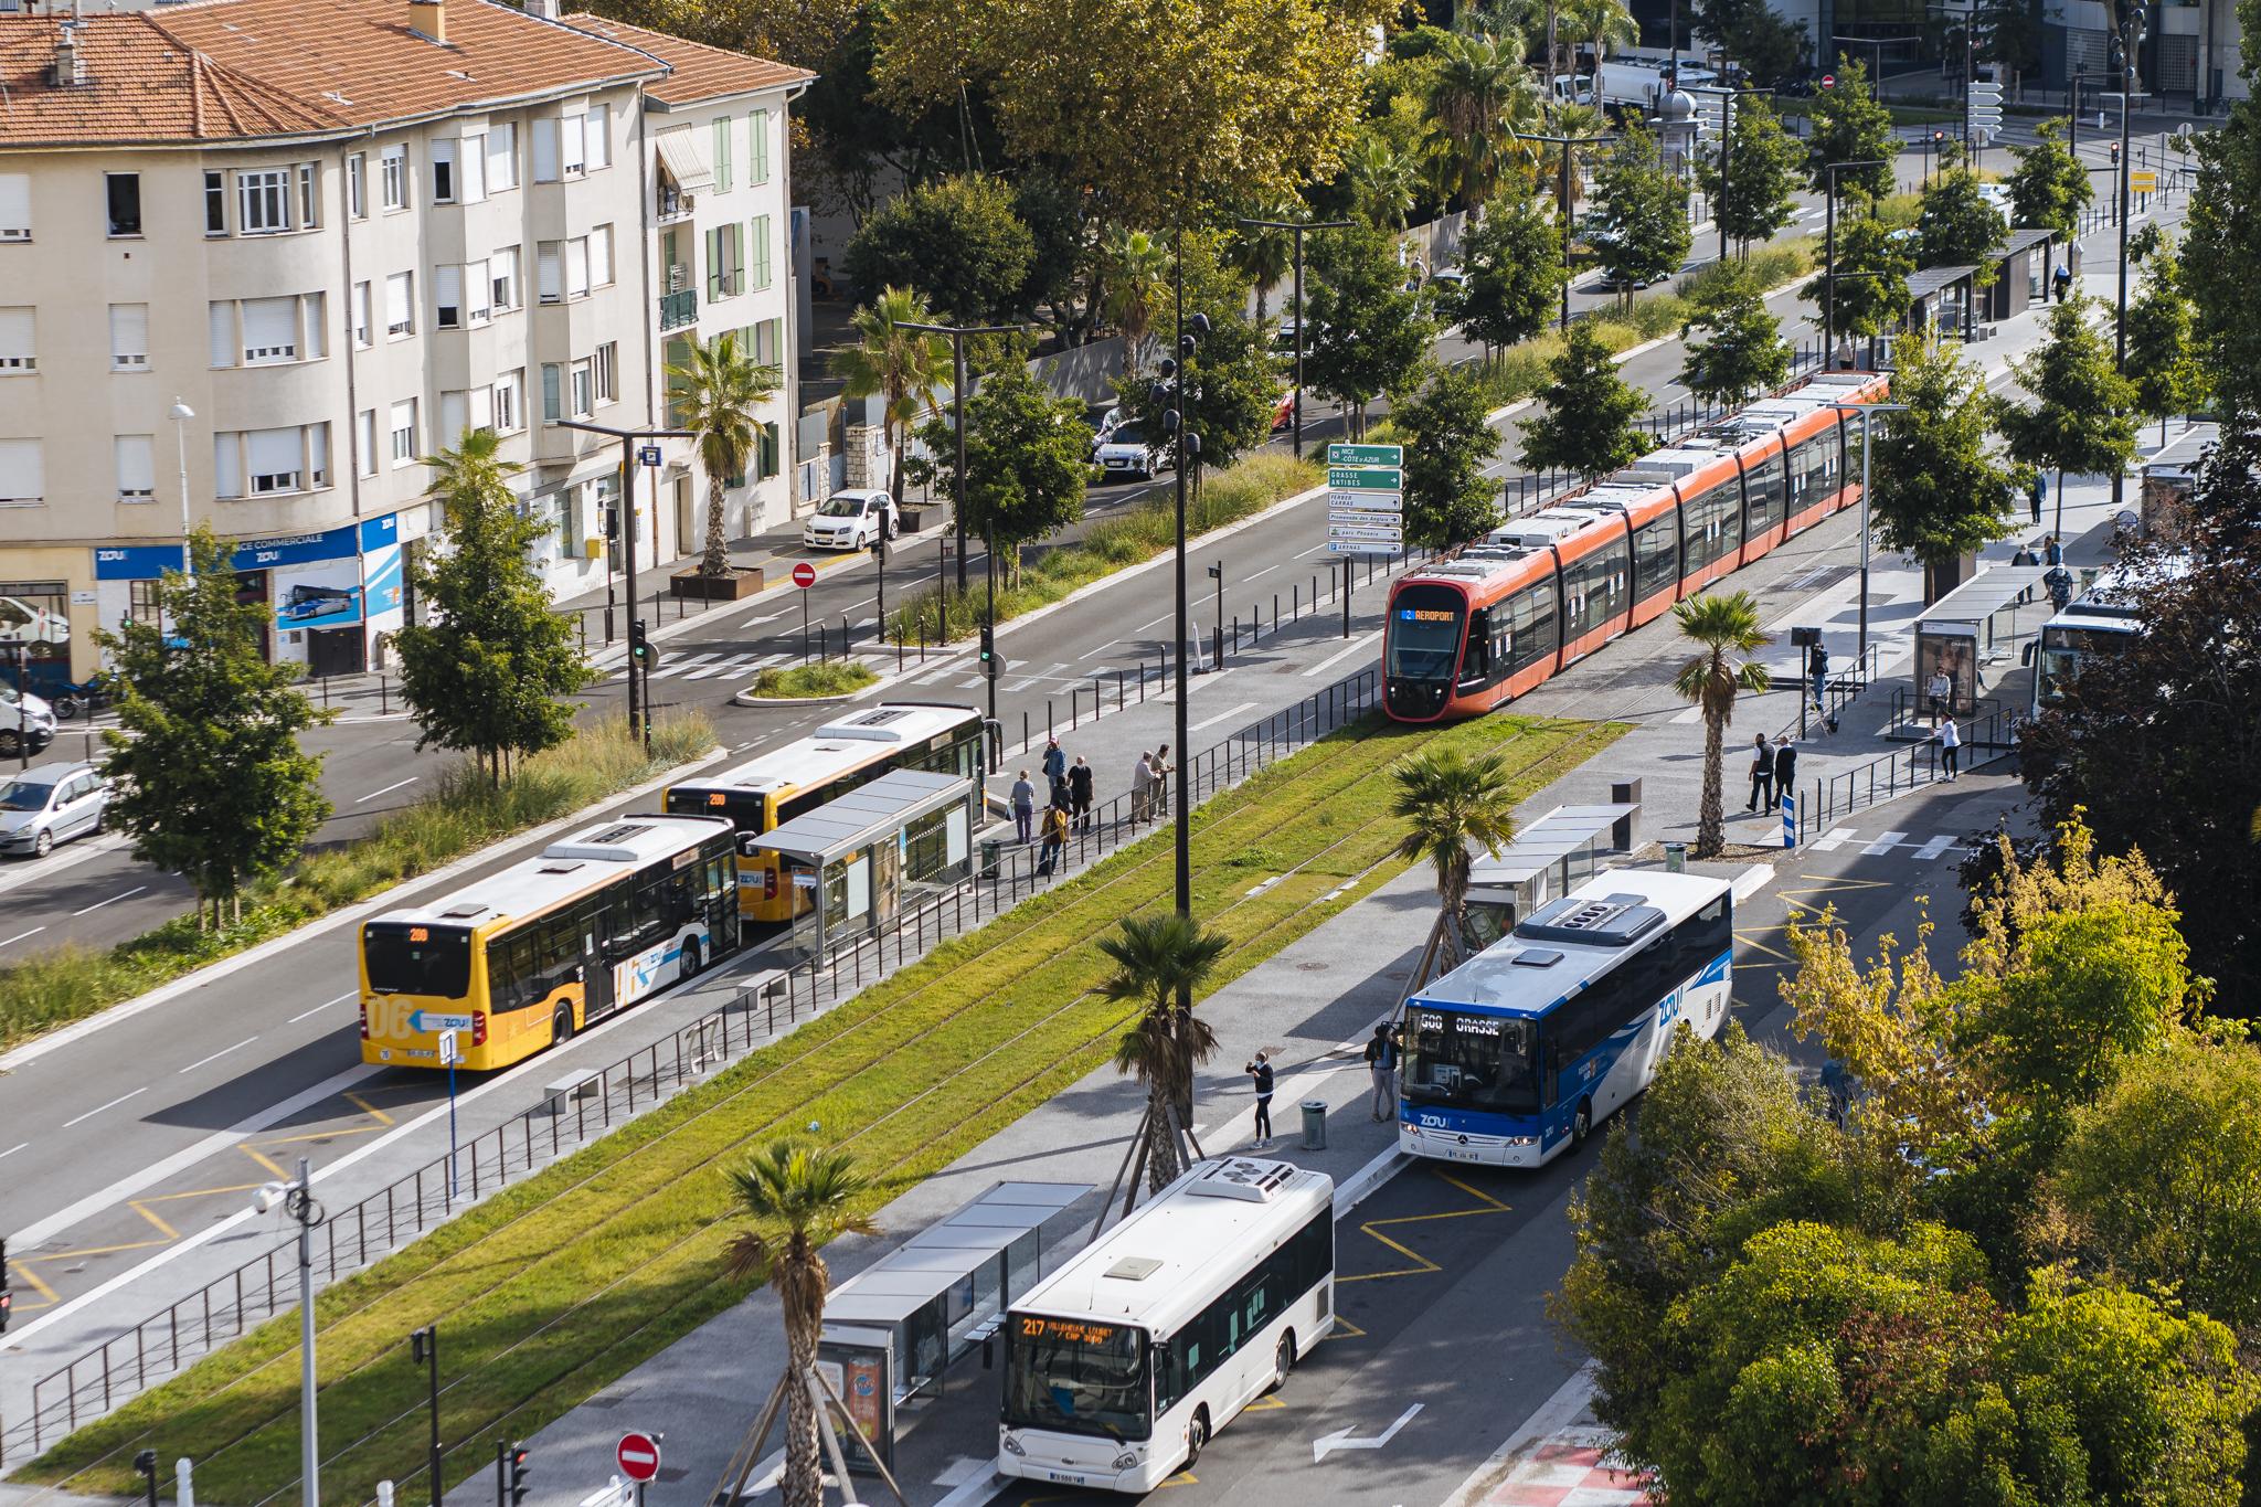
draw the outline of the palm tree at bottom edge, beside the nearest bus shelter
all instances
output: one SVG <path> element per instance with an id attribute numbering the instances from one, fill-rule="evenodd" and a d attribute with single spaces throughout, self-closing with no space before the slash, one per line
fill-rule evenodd
<path id="1" fill-rule="evenodd" d="M 791 1139 L 771 1141 L 730 1170 L 733 1202 L 755 1229 L 737 1231 L 724 1261 L 733 1279 L 769 1281 L 785 1310 L 785 1507 L 825 1500 L 823 1439 L 807 1387 L 832 1288 L 823 1247 L 834 1236 L 880 1234 L 855 1207 L 868 1188 L 852 1155 Z"/>

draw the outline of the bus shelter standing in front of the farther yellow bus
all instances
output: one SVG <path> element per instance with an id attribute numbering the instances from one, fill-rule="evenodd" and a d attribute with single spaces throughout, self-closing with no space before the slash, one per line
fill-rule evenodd
<path id="1" fill-rule="evenodd" d="M 898 768 L 764 831 L 753 850 L 776 854 L 785 881 L 812 890 L 796 929 L 823 956 L 843 933 L 891 924 L 907 890 L 972 874 L 979 791 L 963 775 Z"/>

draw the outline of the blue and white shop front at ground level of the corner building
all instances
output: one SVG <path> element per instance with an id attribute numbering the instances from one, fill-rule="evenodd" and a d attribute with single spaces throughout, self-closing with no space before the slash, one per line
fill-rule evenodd
<path id="1" fill-rule="evenodd" d="M 231 560 L 237 596 L 269 612 L 267 657 L 305 664 L 310 676 L 350 676 L 382 664 L 382 644 L 402 621 L 400 517 L 244 540 Z M 181 569 L 179 545 L 95 549 L 99 621 L 154 621 L 158 581 Z"/>

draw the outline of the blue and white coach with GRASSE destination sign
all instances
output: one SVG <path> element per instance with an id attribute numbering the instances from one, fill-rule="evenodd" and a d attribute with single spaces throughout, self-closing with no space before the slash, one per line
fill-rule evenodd
<path id="1" fill-rule="evenodd" d="M 1617 870 L 1540 906 L 1406 1001 L 1397 1148 L 1540 1166 L 1657 1075 L 1673 1028 L 1727 1019 L 1725 879 Z"/>

